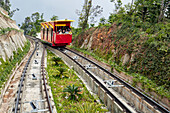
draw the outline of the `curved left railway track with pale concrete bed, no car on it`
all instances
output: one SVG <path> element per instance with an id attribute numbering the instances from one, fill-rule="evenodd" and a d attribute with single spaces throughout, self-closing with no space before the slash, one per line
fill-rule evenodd
<path id="1" fill-rule="evenodd" d="M 13 112 L 56 113 L 51 90 L 47 86 L 45 48 L 39 40 L 29 38 L 35 41 L 35 48 L 22 71 Z"/>

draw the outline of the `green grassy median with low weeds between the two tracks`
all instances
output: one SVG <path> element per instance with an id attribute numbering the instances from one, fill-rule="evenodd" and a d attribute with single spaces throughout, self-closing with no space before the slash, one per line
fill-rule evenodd
<path id="1" fill-rule="evenodd" d="M 87 111 L 86 103 L 89 103 L 88 105 L 93 103 L 90 109 L 96 109 L 94 113 L 96 113 L 96 111 L 106 111 L 101 109 L 101 104 L 96 103 L 96 99 L 90 95 L 82 81 L 76 76 L 72 69 L 69 69 L 63 61 L 59 61 L 59 59 L 55 58 L 56 56 L 52 52 L 47 51 L 47 54 L 48 84 L 51 86 L 58 113 L 75 113 L 78 112 L 81 107 Z M 58 63 L 56 63 L 56 61 L 58 61 Z M 60 68 L 67 70 L 64 72 L 64 76 L 60 75 Z M 78 92 L 78 94 L 81 96 L 76 96 L 76 99 L 69 98 L 70 93 L 64 91 L 69 85 L 79 87 L 81 92 Z M 96 108 L 96 106 L 100 107 Z"/>

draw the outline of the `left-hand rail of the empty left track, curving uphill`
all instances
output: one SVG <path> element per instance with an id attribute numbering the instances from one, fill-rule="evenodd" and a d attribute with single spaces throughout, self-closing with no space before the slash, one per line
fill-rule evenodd
<path id="1" fill-rule="evenodd" d="M 19 90 L 17 91 L 18 95 L 17 95 L 17 99 L 16 99 L 16 103 L 15 103 L 14 113 L 17 113 L 17 111 L 18 111 L 18 105 L 20 104 L 20 103 L 19 103 L 19 101 L 20 101 L 20 99 L 21 99 L 20 95 L 21 95 L 21 93 L 22 93 L 22 87 L 23 87 L 23 85 L 24 85 L 23 82 L 24 82 L 24 78 L 25 78 L 25 76 L 26 76 L 26 75 L 25 75 L 25 74 L 26 74 L 26 70 L 27 70 L 27 67 L 28 67 L 28 65 L 29 65 L 29 63 L 30 63 L 30 60 L 31 60 L 32 56 L 34 55 L 36 49 L 37 49 L 37 42 L 35 43 L 34 51 L 33 51 L 32 54 L 30 55 L 30 57 L 29 57 L 26 65 L 25 65 L 25 67 L 24 67 L 24 70 L 23 70 L 23 72 L 22 72 L 22 75 L 21 75 L 21 79 L 20 79 L 20 83 L 19 83 Z"/>

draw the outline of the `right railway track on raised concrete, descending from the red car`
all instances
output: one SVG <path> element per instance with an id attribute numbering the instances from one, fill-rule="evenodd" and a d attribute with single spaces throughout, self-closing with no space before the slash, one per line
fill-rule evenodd
<path id="1" fill-rule="evenodd" d="M 86 79 L 91 90 L 100 97 L 111 112 L 117 112 L 115 111 L 117 108 L 112 106 L 116 104 L 121 112 L 169 113 L 162 105 L 75 51 L 67 48 L 56 50 L 48 47 L 48 49 L 57 53 L 82 78 Z"/>

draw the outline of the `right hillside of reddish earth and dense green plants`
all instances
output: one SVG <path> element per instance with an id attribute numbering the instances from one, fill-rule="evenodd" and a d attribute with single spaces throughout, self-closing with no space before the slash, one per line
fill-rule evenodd
<path id="1" fill-rule="evenodd" d="M 144 24 L 142 27 L 130 22 L 115 22 L 110 26 L 89 28 L 74 38 L 73 48 L 94 54 L 98 60 L 104 59 L 102 61 L 110 65 L 111 71 L 115 69 L 132 76 L 132 81 L 126 81 L 168 105 L 170 24 L 158 23 L 146 29 L 147 23 Z"/>

